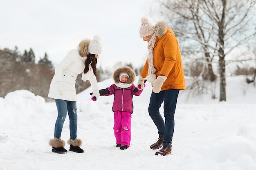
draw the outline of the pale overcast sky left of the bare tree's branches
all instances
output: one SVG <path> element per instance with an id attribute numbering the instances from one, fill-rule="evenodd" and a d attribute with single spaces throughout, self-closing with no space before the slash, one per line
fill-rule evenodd
<path id="1" fill-rule="evenodd" d="M 0 49 L 33 49 L 36 61 L 45 52 L 60 62 L 85 38 L 101 36 L 99 65 L 144 64 L 147 42 L 139 38 L 141 17 L 152 24 L 154 0 L 6 0 L 0 5 Z"/>

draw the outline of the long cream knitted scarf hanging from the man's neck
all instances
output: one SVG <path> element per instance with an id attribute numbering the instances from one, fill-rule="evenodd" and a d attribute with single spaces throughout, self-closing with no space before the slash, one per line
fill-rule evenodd
<path id="1" fill-rule="evenodd" d="M 154 67 L 154 61 L 153 61 L 153 49 L 155 46 L 155 38 L 156 38 L 156 32 L 153 34 L 151 39 L 148 42 L 148 82 L 153 83 L 157 76 L 155 75 L 155 67 Z"/>

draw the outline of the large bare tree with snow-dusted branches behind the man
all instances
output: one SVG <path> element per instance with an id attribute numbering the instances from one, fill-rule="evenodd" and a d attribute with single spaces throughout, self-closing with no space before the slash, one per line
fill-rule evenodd
<path id="1" fill-rule="evenodd" d="M 220 102 L 226 101 L 225 57 L 255 37 L 256 1 L 159 0 L 159 4 L 177 36 L 204 54 L 211 80 L 211 63 L 218 56 Z"/>

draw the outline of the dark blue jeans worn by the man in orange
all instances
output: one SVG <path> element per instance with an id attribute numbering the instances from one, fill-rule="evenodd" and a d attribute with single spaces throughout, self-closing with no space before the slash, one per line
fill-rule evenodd
<path id="1" fill-rule="evenodd" d="M 180 90 L 171 89 L 151 93 L 148 106 L 148 113 L 157 126 L 158 134 L 164 138 L 163 146 L 171 146 L 174 132 L 174 114 L 177 104 L 177 98 Z M 164 117 L 160 115 L 159 108 L 164 102 Z"/>

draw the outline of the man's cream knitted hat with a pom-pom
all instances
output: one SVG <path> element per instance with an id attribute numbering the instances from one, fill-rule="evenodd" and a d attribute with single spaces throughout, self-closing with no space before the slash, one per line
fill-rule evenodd
<path id="1" fill-rule="evenodd" d="M 141 18 L 141 26 L 139 29 L 140 38 L 143 38 L 143 37 L 146 37 L 148 35 L 155 33 L 155 30 L 156 30 L 155 26 L 153 26 L 149 22 L 148 18 L 146 18 L 146 17 Z"/>

